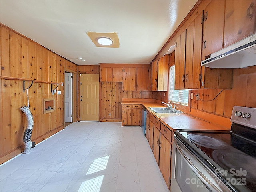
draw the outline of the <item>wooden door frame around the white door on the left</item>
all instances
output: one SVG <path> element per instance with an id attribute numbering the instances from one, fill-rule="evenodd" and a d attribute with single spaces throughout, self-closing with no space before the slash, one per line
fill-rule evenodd
<path id="1" fill-rule="evenodd" d="M 72 73 L 72 76 L 73 76 L 73 80 L 72 80 L 72 114 L 73 114 L 73 117 L 72 117 L 72 122 L 76 122 L 78 120 L 77 118 L 77 109 L 76 109 L 76 106 L 77 106 L 77 72 L 76 71 L 73 71 L 73 70 L 70 70 L 70 69 L 64 69 L 64 73 L 65 72 L 69 72 L 69 73 Z M 64 81 L 65 83 L 65 81 Z M 64 101 L 65 102 L 65 86 L 64 86 Z M 65 105 L 63 104 L 63 107 L 64 107 L 64 112 L 63 112 L 63 116 L 64 116 L 64 121 L 65 121 Z"/>

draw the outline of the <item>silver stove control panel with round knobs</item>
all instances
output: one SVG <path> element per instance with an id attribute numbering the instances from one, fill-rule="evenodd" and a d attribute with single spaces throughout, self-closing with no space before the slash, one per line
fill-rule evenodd
<path id="1" fill-rule="evenodd" d="M 256 108 L 234 106 L 231 122 L 256 129 Z"/>

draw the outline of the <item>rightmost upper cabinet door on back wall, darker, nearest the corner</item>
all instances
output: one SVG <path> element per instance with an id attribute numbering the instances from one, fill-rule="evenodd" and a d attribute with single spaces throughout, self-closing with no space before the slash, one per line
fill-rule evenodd
<path id="1" fill-rule="evenodd" d="M 137 91 L 149 90 L 149 68 L 137 68 L 136 82 Z"/>

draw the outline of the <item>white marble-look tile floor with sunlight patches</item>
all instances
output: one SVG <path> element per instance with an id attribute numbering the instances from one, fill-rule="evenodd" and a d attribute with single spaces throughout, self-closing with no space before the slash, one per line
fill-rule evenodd
<path id="1" fill-rule="evenodd" d="M 76 122 L 0 166 L 1 192 L 168 192 L 140 127 Z"/>

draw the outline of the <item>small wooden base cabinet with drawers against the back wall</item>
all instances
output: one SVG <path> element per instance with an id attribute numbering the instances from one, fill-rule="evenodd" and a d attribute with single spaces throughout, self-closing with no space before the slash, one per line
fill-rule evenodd
<path id="1" fill-rule="evenodd" d="M 140 126 L 140 104 L 122 104 L 122 126 Z"/>

